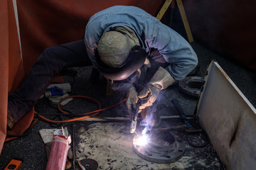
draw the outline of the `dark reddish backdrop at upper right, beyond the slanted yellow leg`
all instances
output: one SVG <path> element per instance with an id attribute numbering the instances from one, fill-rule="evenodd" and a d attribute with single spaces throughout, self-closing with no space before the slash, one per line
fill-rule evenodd
<path id="1" fill-rule="evenodd" d="M 201 45 L 256 72 L 256 1 L 183 0 Z"/>

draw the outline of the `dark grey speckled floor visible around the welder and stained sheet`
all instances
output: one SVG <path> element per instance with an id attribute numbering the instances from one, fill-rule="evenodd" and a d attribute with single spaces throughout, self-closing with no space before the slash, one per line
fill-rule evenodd
<path id="1" fill-rule="evenodd" d="M 247 99 L 252 103 L 252 106 L 256 107 L 256 91 L 254 89 L 256 85 L 256 74 L 248 71 L 247 69 L 240 67 L 238 64 L 235 64 L 229 60 L 226 60 L 224 57 L 207 50 L 202 45 L 199 45 L 196 42 L 191 43 L 193 49 L 196 51 L 198 55 L 198 66 L 200 67 L 199 72 L 197 72 L 194 76 L 203 77 L 206 72 L 206 67 L 210 60 L 216 60 L 218 64 L 224 69 L 224 71 L 228 74 L 228 76 L 234 81 L 234 83 L 238 86 L 240 91 L 247 97 Z M 77 72 L 75 77 L 66 76 L 65 81 L 68 81 L 72 84 L 72 94 L 71 95 L 85 95 L 96 98 L 102 105 L 102 108 L 106 108 L 118 101 L 121 101 L 124 97 L 122 94 L 115 93 L 112 96 L 105 96 L 106 88 L 102 86 L 103 80 L 100 79 L 99 84 L 90 84 L 90 67 L 79 67 L 70 69 L 72 72 Z M 168 89 L 161 91 L 161 94 L 156 101 L 158 103 L 159 108 L 161 108 L 161 115 L 170 115 L 170 111 L 175 111 L 174 106 L 171 104 L 171 99 L 176 98 L 181 103 L 181 107 L 186 115 L 192 115 L 193 111 L 196 107 L 197 98 L 193 96 L 188 96 L 184 94 L 178 89 L 178 84 L 169 87 Z M 72 111 L 73 113 L 85 113 L 88 110 L 88 107 L 93 108 L 92 104 L 85 104 L 85 101 L 81 99 L 75 99 L 72 102 L 68 103 L 67 106 L 64 106 L 63 109 L 68 111 Z M 100 113 L 102 116 L 125 116 L 127 113 L 124 111 L 124 103 L 120 104 L 115 108 L 111 108 L 108 111 L 104 111 Z M 35 110 L 38 113 L 59 113 L 56 109 L 56 106 L 45 99 L 41 99 L 36 103 Z M 177 114 L 177 113 L 174 113 Z M 47 118 L 52 119 L 55 115 L 46 115 Z M 37 116 L 35 118 L 38 118 Z M 63 117 L 66 119 L 67 117 Z M 58 119 L 58 118 L 57 118 Z M 4 169 L 4 167 L 11 161 L 12 158 L 21 158 L 23 159 L 23 165 L 21 169 L 46 169 L 47 159 L 46 159 L 46 151 L 45 146 L 43 144 L 43 140 L 38 133 L 38 130 L 41 129 L 49 129 L 49 128 L 59 128 L 61 126 L 68 127 L 68 131 L 72 137 L 73 143 L 75 139 L 75 135 L 73 135 L 73 130 L 76 132 L 78 129 L 73 129 L 74 127 L 79 127 L 80 123 L 67 123 L 65 125 L 50 125 L 46 121 L 38 118 L 38 122 L 33 126 L 31 132 L 24 136 L 20 137 L 17 140 L 10 142 L 8 145 L 4 146 L 0 155 L 0 169 Z M 72 147 L 73 147 L 72 143 Z M 223 169 L 221 166 L 218 157 L 216 156 L 212 147 L 208 146 L 204 149 L 197 149 L 193 147 L 189 147 L 188 143 L 186 143 L 188 149 L 188 153 L 194 152 L 196 155 L 200 157 L 207 157 L 204 165 L 199 166 L 196 164 L 196 160 L 191 162 L 189 165 L 189 169 Z M 202 154 L 204 152 L 204 154 Z M 211 160 L 211 159 L 214 159 Z M 78 158 L 77 158 L 78 159 Z M 210 162 L 217 162 L 218 165 L 209 167 L 206 164 L 210 164 Z M 123 169 L 124 167 L 120 167 L 119 169 Z M 76 165 L 76 169 L 78 166 Z M 146 169 L 146 168 L 141 168 Z M 178 168 L 172 168 L 178 169 Z"/>

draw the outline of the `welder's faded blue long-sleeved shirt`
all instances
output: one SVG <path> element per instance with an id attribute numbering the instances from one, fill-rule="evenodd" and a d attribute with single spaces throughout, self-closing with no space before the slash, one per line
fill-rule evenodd
<path id="1" fill-rule="evenodd" d="M 158 49 L 164 60 L 170 63 L 165 69 L 176 80 L 184 79 L 198 64 L 196 52 L 191 45 L 154 16 L 135 6 L 112 6 L 92 16 L 85 29 L 87 53 L 95 67 L 94 50 L 97 43 L 103 33 L 115 26 L 132 29 L 146 52 L 150 48 Z"/>

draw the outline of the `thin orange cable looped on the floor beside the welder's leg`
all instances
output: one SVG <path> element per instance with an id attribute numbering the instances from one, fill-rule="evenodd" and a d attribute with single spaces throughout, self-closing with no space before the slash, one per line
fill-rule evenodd
<path id="1" fill-rule="evenodd" d="M 109 106 L 107 108 L 101 108 L 101 105 L 100 105 L 100 102 L 98 102 L 95 98 L 91 98 L 91 97 L 88 97 L 88 96 L 68 96 L 68 97 L 65 97 L 63 99 L 61 99 L 59 102 L 58 102 L 58 110 L 61 112 L 61 113 L 65 113 L 65 114 L 69 114 L 68 112 L 65 112 L 63 111 L 61 108 L 60 108 L 60 104 L 67 100 L 68 98 L 87 98 L 87 99 L 90 99 L 92 101 L 94 101 L 95 103 L 97 103 L 97 105 L 99 106 L 99 109 L 95 110 L 95 111 L 90 111 L 90 112 L 87 112 L 87 113 L 82 113 L 82 115 L 85 115 L 85 116 L 82 116 L 80 118 L 73 118 L 73 119 L 69 119 L 69 120 L 50 120 L 48 118 L 45 118 L 43 117 L 43 115 L 40 115 L 39 113 L 37 113 L 36 111 L 34 111 L 36 113 L 36 115 L 38 115 L 40 118 L 42 118 L 43 120 L 46 120 L 50 123 L 69 123 L 69 122 L 75 122 L 75 121 L 78 121 L 78 120 L 82 120 L 82 119 L 85 119 L 85 118 L 90 118 L 91 117 L 91 114 L 92 116 L 95 116 L 95 115 L 98 115 L 101 111 L 106 111 L 107 109 L 110 109 L 110 108 L 113 108 L 114 106 L 117 106 L 119 105 L 120 103 L 126 101 L 127 99 L 124 98 L 122 101 L 119 101 L 118 103 L 115 103 L 114 105 L 112 106 Z"/>

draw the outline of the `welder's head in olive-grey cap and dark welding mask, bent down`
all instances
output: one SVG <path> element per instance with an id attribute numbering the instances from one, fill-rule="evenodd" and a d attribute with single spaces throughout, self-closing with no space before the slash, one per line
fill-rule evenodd
<path id="1" fill-rule="evenodd" d="M 139 45 L 128 28 L 111 28 L 95 49 L 95 60 L 102 75 L 112 83 L 133 83 L 139 78 L 138 69 L 146 60 L 146 50 Z"/>

